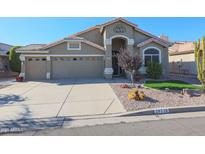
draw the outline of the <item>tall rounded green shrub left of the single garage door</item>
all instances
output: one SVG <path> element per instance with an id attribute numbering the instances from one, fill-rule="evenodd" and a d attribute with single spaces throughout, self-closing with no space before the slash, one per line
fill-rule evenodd
<path id="1" fill-rule="evenodd" d="M 9 50 L 9 66 L 10 69 L 14 72 L 21 72 L 21 61 L 19 59 L 20 54 L 16 53 L 16 49 L 20 48 L 20 46 L 14 46 Z"/>

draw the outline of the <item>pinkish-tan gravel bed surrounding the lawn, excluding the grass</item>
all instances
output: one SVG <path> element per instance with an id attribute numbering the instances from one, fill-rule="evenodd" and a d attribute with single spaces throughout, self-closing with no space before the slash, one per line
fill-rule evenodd
<path id="1" fill-rule="evenodd" d="M 205 104 L 205 94 L 199 95 L 182 95 L 180 90 L 155 90 L 141 87 L 146 98 L 142 101 L 128 100 L 127 94 L 129 88 L 121 88 L 120 83 L 111 83 L 110 86 L 115 91 L 124 108 L 127 111 L 140 109 L 157 108 L 157 107 L 175 107 Z M 198 92 L 199 93 L 199 92 Z"/>

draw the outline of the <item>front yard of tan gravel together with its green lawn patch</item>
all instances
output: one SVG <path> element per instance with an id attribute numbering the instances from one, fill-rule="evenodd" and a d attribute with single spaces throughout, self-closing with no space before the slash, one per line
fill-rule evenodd
<path id="1" fill-rule="evenodd" d="M 112 83 L 110 85 L 127 111 L 157 107 L 205 105 L 204 93 L 201 95 L 182 94 L 181 89 L 184 88 L 195 89 L 194 92 L 200 93 L 199 86 L 183 81 L 149 81 L 144 85 L 149 88 L 143 86 L 138 88 L 139 91 L 144 92 L 146 95 L 144 100 L 128 100 L 128 92 L 131 88 L 121 88 L 120 83 Z M 165 88 L 169 88 L 170 90 L 164 90 Z"/>

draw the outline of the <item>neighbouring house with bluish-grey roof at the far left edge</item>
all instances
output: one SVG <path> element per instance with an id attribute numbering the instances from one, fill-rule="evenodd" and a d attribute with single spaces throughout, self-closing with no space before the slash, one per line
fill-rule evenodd
<path id="1" fill-rule="evenodd" d="M 0 72 L 9 71 L 9 49 L 11 45 L 0 43 Z"/>

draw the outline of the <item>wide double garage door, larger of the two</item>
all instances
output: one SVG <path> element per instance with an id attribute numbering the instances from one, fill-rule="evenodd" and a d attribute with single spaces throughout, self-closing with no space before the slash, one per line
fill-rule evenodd
<path id="1" fill-rule="evenodd" d="M 103 57 L 55 57 L 52 59 L 52 78 L 102 77 L 103 66 Z"/>

